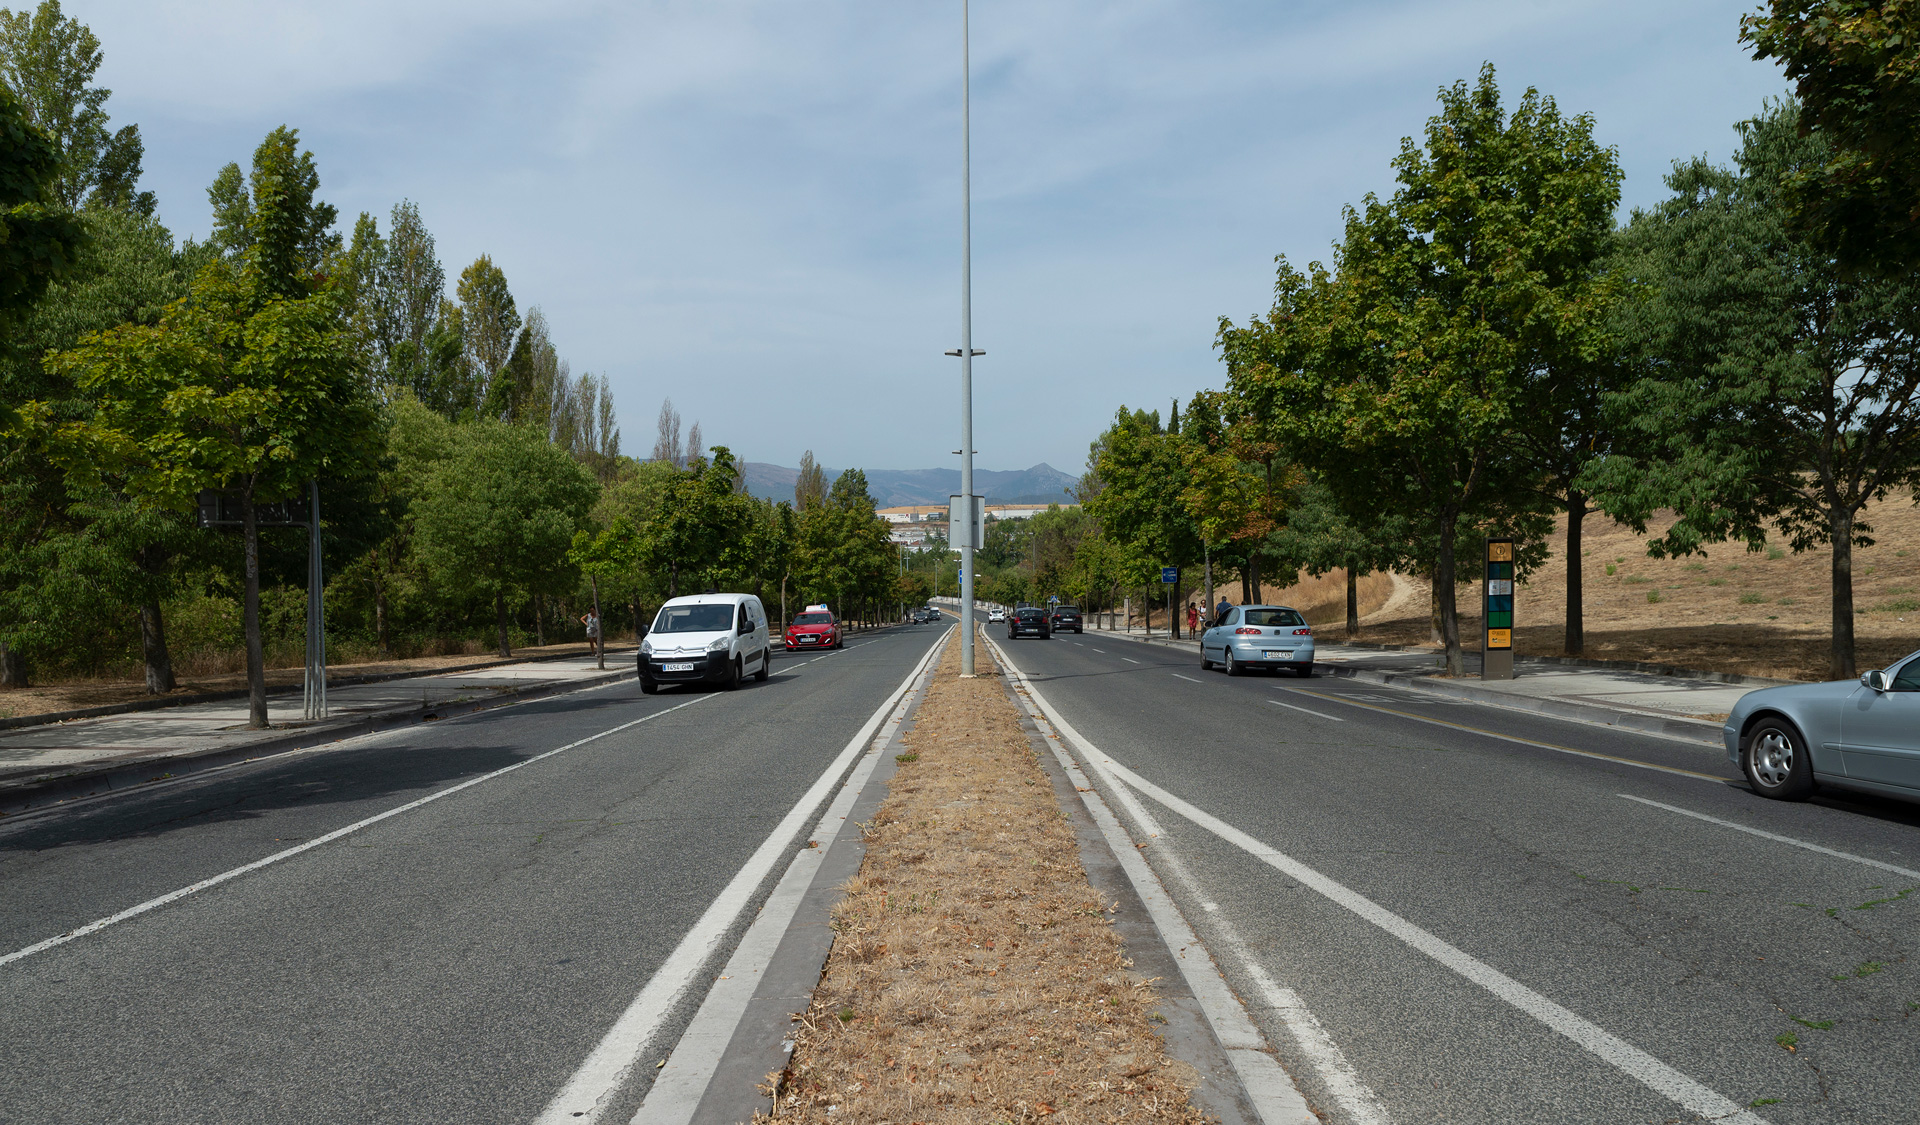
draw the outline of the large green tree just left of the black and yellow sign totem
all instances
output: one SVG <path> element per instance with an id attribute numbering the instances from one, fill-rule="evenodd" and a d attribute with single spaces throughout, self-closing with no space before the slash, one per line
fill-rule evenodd
<path id="1" fill-rule="evenodd" d="M 1336 273 L 1284 261 L 1275 307 L 1221 323 L 1233 390 L 1348 511 L 1405 516 L 1430 543 L 1450 674 L 1461 526 L 1536 505 L 1513 432 L 1540 323 L 1563 307 L 1617 173 L 1592 119 L 1528 90 L 1507 115 L 1492 67 L 1440 92 L 1425 146 L 1402 142 L 1392 200 L 1348 209 Z M 1601 227 L 1603 230 L 1603 227 Z"/>

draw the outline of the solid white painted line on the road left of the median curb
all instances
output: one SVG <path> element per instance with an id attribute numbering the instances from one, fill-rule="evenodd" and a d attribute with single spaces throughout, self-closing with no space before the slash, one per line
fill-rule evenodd
<path id="1" fill-rule="evenodd" d="M 929 645 L 927 655 L 922 657 L 922 664 L 933 658 L 939 645 Z M 760 887 L 760 881 L 774 870 L 780 862 L 781 852 L 787 843 L 801 831 L 806 824 L 808 814 L 818 808 L 833 785 L 839 783 L 841 776 L 852 764 L 852 760 L 866 747 L 866 741 L 874 737 L 874 731 L 887 718 L 887 712 L 899 703 L 900 695 L 912 687 L 914 678 L 920 676 L 920 664 L 906 674 L 906 680 L 879 705 L 870 720 L 852 735 L 847 747 L 833 758 L 833 764 L 826 768 L 824 774 L 814 781 L 812 789 L 795 802 L 787 816 L 768 833 L 766 841 L 753 852 L 733 879 L 720 891 L 720 897 L 712 900 L 701 920 L 693 923 L 693 929 L 680 939 L 674 952 L 666 956 L 660 968 L 653 973 L 653 979 L 634 996 L 634 1002 L 626 1006 L 626 1012 L 614 1019 L 614 1025 L 607 1029 L 593 1052 L 580 1064 L 580 1069 L 566 1081 L 566 1087 L 547 1102 L 545 1112 L 534 1119 L 534 1125 L 593 1125 L 599 1121 L 607 1104 L 618 1094 L 628 1077 L 634 1073 L 634 1065 L 639 1064 L 641 1054 L 660 1033 L 660 1025 L 680 1004 L 687 989 L 693 987 L 701 969 L 712 958 L 714 948 L 720 939 L 726 937 L 733 922 L 753 900 L 753 893 Z"/>

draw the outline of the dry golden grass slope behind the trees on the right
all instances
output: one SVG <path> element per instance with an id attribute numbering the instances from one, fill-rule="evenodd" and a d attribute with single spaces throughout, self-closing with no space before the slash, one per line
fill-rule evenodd
<path id="1" fill-rule="evenodd" d="M 1670 522 L 1670 518 L 1668 518 Z M 1853 555 L 1857 662 L 1882 668 L 1920 649 L 1920 509 L 1897 495 L 1866 511 L 1874 545 Z M 1649 536 L 1663 530 L 1649 528 Z M 1567 524 L 1548 564 L 1521 584 L 1515 649 L 1561 655 L 1567 628 Z M 1747 553 L 1720 543 L 1707 557 L 1649 559 L 1645 538 L 1607 516 L 1588 516 L 1582 543 L 1586 657 L 1778 680 L 1826 680 L 1832 622 L 1826 549 Z M 1392 612 L 1363 618 L 1361 639 L 1425 645 L 1428 586 Z M 1480 599 L 1461 586 L 1461 635 L 1478 635 Z"/>

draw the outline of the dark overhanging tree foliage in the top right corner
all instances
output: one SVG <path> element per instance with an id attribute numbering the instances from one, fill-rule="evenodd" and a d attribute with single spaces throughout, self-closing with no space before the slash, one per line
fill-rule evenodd
<path id="1" fill-rule="evenodd" d="M 1786 67 L 1801 132 L 1824 142 L 1782 184 L 1799 228 L 1845 269 L 1907 275 L 1920 261 L 1920 4 L 1768 0 L 1740 36 Z"/>

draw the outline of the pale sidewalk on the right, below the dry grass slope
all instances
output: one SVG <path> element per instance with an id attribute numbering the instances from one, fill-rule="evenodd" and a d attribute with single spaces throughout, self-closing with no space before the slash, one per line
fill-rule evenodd
<path id="1" fill-rule="evenodd" d="M 1089 634 L 1127 637 L 1140 643 L 1179 647 L 1194 653 L 1194 639 L 1152 637 L 1140 632 L 1098 628 L 1089 618 Z M 1741 695 L 1755 687 L 1772 687 L 1784 680 L 1753 676 L 1672 676 L 1626 668 L 1592 668 L 1561 662 L 1561 658 L 1517 657 L 1513 680 L 1480 680 L 1480 655 L 1467 653 L 1467 676 L 1446 680 L 1438 676 L 1440 657 L 1430 651 L 1371 649 L 1315 641 L 1315 666 L 1334 676 L 1352 676 L 1373 683 L 1415 687 L 1444 695 L 1513 706 L 1540 714 L 1557 714 L 1582 722 L 1603 722 L 1645 730 L 1651 733 L 1720 745 L 1720 720 Z M 1709 678 L 1711 676 L 1711 678 Z"/>

